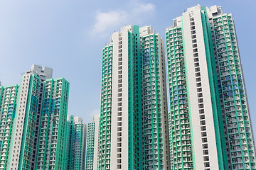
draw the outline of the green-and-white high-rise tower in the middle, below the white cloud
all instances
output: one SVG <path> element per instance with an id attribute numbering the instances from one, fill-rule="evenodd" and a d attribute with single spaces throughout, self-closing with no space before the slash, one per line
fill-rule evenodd
<path id="1" fill-rule="evenodd" d="M 102 52 L 98 169 L 169 169 L 164 41 L 124 26 Z"/>

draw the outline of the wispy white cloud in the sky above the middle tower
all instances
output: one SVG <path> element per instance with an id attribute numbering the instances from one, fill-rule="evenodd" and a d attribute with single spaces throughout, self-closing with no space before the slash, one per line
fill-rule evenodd
<path id="1" fill-rule="evenodd" d="M 129 1 L 127 8 L 108 12 L 97 11 L 92 33 L 105 35 L 106 33 L 112 33 L 114 28 L 128 24 L 144 23 L 155 10 L 154 4 L 143 4 L 134 0 Z"/>

